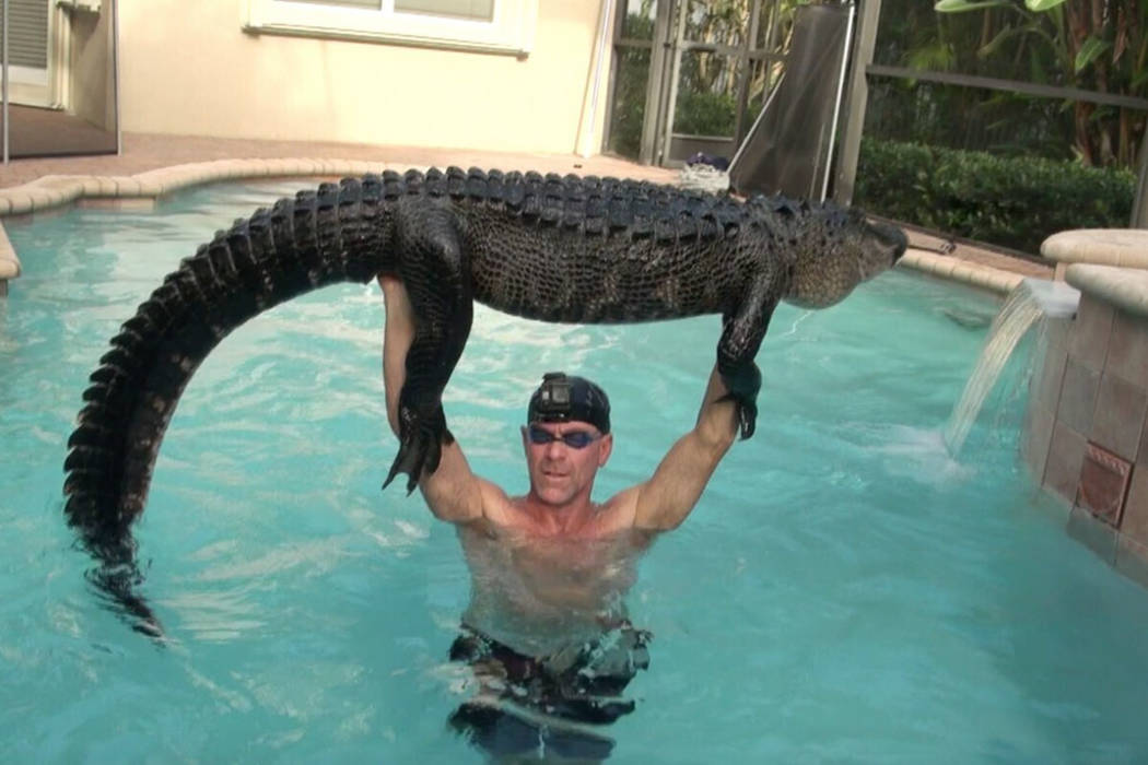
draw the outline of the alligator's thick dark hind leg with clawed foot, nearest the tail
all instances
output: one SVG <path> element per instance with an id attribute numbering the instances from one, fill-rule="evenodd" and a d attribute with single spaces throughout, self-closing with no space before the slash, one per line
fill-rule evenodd
<path id="1" fill-rule="evenodd" d="M 453 440 L 442 391 L 471 334 L 474 304 L 470 264 L 449 203 L 427 209 L 404 202 L 396 205 L 395 247 L 414 313 L 414 338 L 398 395 L 398 455 L 382 485 L 405 473 L 409 493 L 424 471 L 439 467 L 442 444 Z"/>

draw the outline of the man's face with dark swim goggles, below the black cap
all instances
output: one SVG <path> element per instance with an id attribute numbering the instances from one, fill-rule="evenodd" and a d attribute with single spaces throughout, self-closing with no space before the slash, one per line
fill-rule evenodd
<path id="1" fill-rule="evenodd" d="M 532 430 L 535 437 L 532 437 Z M 563 440 L 564 436 L 574 440 L 587 437 L 592 440 L 582 448 L 575 448 Z M 546 443 L 535 443 L 537 440 Z M 522 428 L 530 489 L 546 505 L 566 505 L 583 492 L 589 495 L 594 477 L 610 458 L 613 444 L 612 435 L 603 436 L 589 422 L 532 422 Z"/>

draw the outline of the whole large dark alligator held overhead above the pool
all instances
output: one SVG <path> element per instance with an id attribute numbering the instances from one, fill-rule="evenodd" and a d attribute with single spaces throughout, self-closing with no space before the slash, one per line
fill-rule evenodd
<path id="1" fill-rule="evenodd" d="M 323 184 L 218 232 L 113 337 L 68 440 L 64 512 L 103 563 L 101 588 L 144 614 L 130 526 L 181 391 L 235 327 L 327 284 L 390 275 L 410 295 L 416 336 L 383 483 L 406 474 L 410 492 L 452 439 L 441 397 L 474 300 L 553 322 L 720 313 L 718 368 L 748 438 L 754 356 L 778 302 L 831 305 L 905 247 L 856 209 L 645 181 L 449 167 Z"/>

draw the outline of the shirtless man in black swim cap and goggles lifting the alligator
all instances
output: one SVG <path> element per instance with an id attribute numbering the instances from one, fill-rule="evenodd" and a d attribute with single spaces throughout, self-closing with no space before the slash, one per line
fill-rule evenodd
<path id="1" fill-rule="evenodd" d="M 383 382 L 398 434 L 398 393 L 414 315 L 397 279 L 379 279 L 387 306 Z M 637 555 L 677 528 L 737 434 L 732 401 L 716 368 L 693 429 L 653 476 L 605 502 L 591 499 L 613 452 L 610 403 L 582 377 L 548 374 L 521 429 L 529 491 L 511 497 L 474 475 L 458 442 L 419 478 L 435 517 L 453 523 L 472 575 L 464 633 L 451 659 L 468 663 L 479 695 L 451 718 L 498 754 L 536 751 L 603 758 L 611 742 L 584 724 L 633 710 L 619 698 L 647 662 L 649 633 L 626 616 L 623 595 Z M 567 725 L 568 724 L 568 725 Z"/>

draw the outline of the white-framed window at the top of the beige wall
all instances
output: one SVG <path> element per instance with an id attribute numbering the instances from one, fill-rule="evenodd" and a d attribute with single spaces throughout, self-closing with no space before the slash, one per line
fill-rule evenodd
<path id="1" fill-rule="evenodd" d="M 253 33 L 526 55 L 538 0 L 248 0 Z"/>

